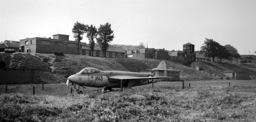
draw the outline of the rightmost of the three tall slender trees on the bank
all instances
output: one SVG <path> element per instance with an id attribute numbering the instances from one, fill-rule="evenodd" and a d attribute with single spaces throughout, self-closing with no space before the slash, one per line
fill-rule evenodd
<path id="1" fill-rule="evenodd" d="M 104 25 L 100 24 L 100 27 L 98 28 L 98 38 L 97 43 L 100 45 L 100 49 L 102 52 L 104 52 L 104 57 L 106 57 L 106 51 L 108 50 L 108 43 L 113 41 L 114 34 L 113 30 L 111 30 L 111 24 L 106 23 Z"/>

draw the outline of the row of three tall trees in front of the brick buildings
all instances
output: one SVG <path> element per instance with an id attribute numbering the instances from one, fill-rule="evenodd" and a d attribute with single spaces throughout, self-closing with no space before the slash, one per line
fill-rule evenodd
<path id="1" fill-rule="evenodd" d="M 74 34 L 75 41 L 78 43 L 83 39 L 83 35 L 86 33 L 86 37 L 89 39 L 89 47 L 91 50 L 91 54 L 93 56 L 93 51 L 95 47 L 95 41 L 96 39 L 97 43 L 100 46 L 101 51 L 104 54 L 104 57 L 106 57 L 106 51 L 108 50 L 108 43 L 113 41 L 114 34 L 113 30 L 111 29 L 111 24 L 108 22 L 104 25 L 101 25 L 98 27 L 98 30 L 95 26 L 92 24 L 84 25 L 83 23 L 79 23 L 76 21 L 72 28 L 72 33 Z M 79 47 L 77 48 L 77 54 L 79 52 Z"/>

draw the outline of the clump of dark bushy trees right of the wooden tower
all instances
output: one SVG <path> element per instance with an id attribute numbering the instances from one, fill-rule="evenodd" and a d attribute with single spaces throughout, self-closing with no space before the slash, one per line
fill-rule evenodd
<path id="1" fill-rule="evenodd" d="M 220 63 L 223 58 L 232 59 L 240 58 L 240 54 L 238 54 L 237 49 L 231 45 L 220 45 L 218 42 L 214 41 L 213 39 L 205 38 L 204 44 L 200 50 L 201 54 L 204 54 L 204 57 L 208 57 L 208 61 L 212 57 L 212 61 L 214 61 L 215 57 L 220 58 Z"/>

